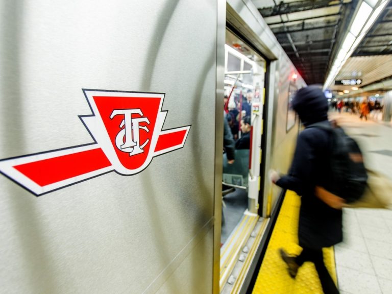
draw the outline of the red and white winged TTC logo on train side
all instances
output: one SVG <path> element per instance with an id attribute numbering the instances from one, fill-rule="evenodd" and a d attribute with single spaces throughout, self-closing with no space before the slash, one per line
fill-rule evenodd
<path id="1" fill-rule="evenodd" d="M 135 175 L 153 157 L 184 146 L 190 126 L 162 130 L 164 94 L 83 89 L 79 116 L 93 143 L 0 160 L 0 173 L 39 196 L 111 171 Z"/>

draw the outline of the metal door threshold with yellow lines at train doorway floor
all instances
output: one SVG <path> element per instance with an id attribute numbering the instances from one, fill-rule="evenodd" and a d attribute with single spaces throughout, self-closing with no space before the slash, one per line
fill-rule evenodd
<path id="1" fill-rule="evenodd" d="M 239 224 L 220 250 L 221 294 L 239 293 L 267 228 L 269 218 L 244 212 Z"/>

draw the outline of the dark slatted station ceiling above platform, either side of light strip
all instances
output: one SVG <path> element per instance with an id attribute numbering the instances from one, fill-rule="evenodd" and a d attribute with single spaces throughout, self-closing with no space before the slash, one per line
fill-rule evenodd
<path id="1" fill-rule="evenodd" d="M 368 2 L 377 3 L 377 0 Z M 308 85 L 324 84 L 358 0 L 252 0 Z M 392 78 L 392 0 L 335 80 L 360 78 L 365 87 Z M 342 91 L 351 86 L 332 86 Z M 382 90 L 382 89 L 381 89 Z"/>

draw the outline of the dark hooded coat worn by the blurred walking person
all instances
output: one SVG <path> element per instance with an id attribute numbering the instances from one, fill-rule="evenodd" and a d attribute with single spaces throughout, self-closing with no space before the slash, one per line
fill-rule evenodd
<path id="1" fill-rule="evenodd" d="M 321 249 L 342 240 L 342 211 L 334 209 L 314 195 L 314 188 L 326 186 L 330 178 L 328 153 L 330 134 L 320 128 L 307 128 L 315 122 L 329 124 L 327 99 L 320 88 L 298 90 L 292 102 L 305 129 L 299 134 L 289 174 L 276 184 L 301 196 L 298 228 L 301 247 Z"/>

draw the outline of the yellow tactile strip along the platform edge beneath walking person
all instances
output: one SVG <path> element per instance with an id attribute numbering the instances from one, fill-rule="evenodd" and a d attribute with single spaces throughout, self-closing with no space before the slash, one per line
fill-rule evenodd
<path id="1" fill-rule="evenodd" d="M 287 191 L 278 215 L 271 239 L 269 240 L 260 267 L 253 294 L 322 294 L 320 280 L 314 264 L 305 262 L 299 269 L 296 279 L 287 273 L 286 264 L 280 258 L 278 249 L 283 247 L 290 254 L 299 254 L 298 219 L 300 197 Z M 324 262 L 336 284 L 336 269 L 333 248 L 324 250 Z"/>

